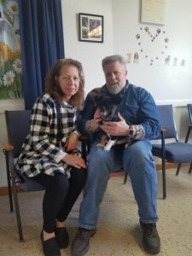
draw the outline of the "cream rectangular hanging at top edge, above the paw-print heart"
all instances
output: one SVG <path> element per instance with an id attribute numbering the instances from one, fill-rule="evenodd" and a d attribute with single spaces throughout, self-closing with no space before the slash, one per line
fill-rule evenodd
<path id="1" fill-rule="evenodd" d="M 141 22 L 165 24 L 166 0 L 142 0 Z"/>

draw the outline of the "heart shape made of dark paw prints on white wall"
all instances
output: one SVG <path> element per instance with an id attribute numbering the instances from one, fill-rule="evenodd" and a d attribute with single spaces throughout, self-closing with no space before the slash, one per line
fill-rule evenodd
<path id="1" fill-rule="evenodd" d="M 165 55 L 168 48 L 169 38 L 166 37 L 166 31 L 161 28 L 152 31 L 148 26 L 140 27 L 140 32 L 136 34 L 136 39 L 138 51 L 150 61 L 151 66 L 154 61 L 160 60 Z"/>

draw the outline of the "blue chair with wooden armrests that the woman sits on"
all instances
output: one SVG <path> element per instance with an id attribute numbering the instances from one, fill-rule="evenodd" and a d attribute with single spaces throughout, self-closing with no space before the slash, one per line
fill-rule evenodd
<path id="1" fill-rule="evenodd" d="M 9 206 L 10 211 L 13 212 L 13 194 L 20 241 L 23 240 L 23 232 L 17 191 L 18 189 L 20 191 L 37 191 L 44 189 L 40 184 L 34 182 L 28 177 L 24 177 L 20 172 L 15 170 L 15 159 L 19 157 L 22 143 L 30 130 L 30 116 L 31 111 L 29 110 L 5 111 L 9 143 L 3 145 L 3 153 L 6 160 Z"/>

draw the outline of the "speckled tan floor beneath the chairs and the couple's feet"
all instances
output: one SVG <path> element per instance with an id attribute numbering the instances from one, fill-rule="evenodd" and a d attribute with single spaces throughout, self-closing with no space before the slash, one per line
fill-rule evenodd
<path id="1" fill-rule="evenodd" d="M 192 255 L 192 174 L 181 170 L 167 172 L 167 199 L 162 200 L 161 172 L 158 172 L 158 230 L 163 256 Z M 7 195 L 0 196 L 0 255 L 43 255 L 39 234 L 42 229 L 42 197 L 44 192 L 20 193 L 20 212 L 25 241 L 18 239 L 15 213 L 9 212 Z M 72 239 L 78 224 L 79 201 L 67 219 L 67 229 Z M 96 236 L 91 238 L 87 256 L 143 256 L 142 232 L 138 225 L 137 204 L 131 183 L 123 185 L 123 177 L 111 177 L 102 202 Z M 70 248 L 61 250 L 70 255 Z"/>

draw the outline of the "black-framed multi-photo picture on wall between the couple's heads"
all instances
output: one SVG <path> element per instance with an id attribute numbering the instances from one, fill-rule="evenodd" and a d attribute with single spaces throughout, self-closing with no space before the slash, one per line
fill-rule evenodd
<path id="1" fill-rule="evenodd" d="M 79 41 L 103 43 L 103 16 L 79 13 Z"/>

